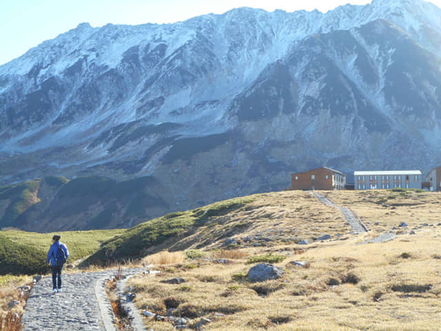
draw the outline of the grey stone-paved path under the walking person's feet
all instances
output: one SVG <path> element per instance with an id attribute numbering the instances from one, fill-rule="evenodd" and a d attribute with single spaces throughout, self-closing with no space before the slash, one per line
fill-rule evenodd
<path id="1" fill-rule="evenodd" d="M 126 270 L 134 274 L 139 270 Z M 43 277 L 32 291 L 21 319 L 24 331 L 114 331 L 105 279 L 116 270 L 63 274 L 61 293 L 52 294 L 52 277 Z"/>

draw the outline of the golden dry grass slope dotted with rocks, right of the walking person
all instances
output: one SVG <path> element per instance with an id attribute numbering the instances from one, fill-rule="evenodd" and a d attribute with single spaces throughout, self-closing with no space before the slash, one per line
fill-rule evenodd
<path id="1" fill-rule="evenodd" d="M 252 203 L 215 217 L 187 239 L 193 250 L 145 257 L 161 273 L 130 279 L 137 307 L 187 317 L 189 328 L 201 317 L 211 319 L 203 330 L 441 330 L 441 195 L 320 193 L 356 211 L 372 230 L 352 234 L 336 208 L 309 192 L 257 194 Z M 399 227 L 403 221 L 409 226 Z M 398 236 L 364 243 L 382 232 Z M 220 250 L 222 233 L 239 244 Z M 296 243 L 322 234 L 332 238 Z M 229 263 L 215 261 L 223 257 Z M 260 260 L 278 261 L 273 264 L 285 274 L 249 282 L 247 272 Z M 185 283 L 162 282 L 174 277 Z M 176 330 L 169 321 L 144 321 L 148 330 Z"/>

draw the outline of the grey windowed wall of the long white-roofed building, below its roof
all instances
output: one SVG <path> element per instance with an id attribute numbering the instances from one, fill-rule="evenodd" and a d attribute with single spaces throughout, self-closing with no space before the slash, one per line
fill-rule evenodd
<path id="1" fill-rule="evenodd" d="M 417 176 L 417 177 L 416 177 Z M 388 188 L 421 188 L 422 175 L 388 174 L 354 176 L 356 190 L 382 190 Z"/>

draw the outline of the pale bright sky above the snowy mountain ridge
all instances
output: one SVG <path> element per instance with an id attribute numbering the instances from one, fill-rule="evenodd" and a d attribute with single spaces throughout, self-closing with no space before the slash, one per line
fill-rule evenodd
<path id="1" fill-rule="evenodd" d="M 0 65 L 42 41 L 89 22 L 91 26 L 172 23 L 201 14 L 221 14 L 242 6 L 268 11 L 322 12 L 370 0 L 0 0 Z M 431 1 L 441 7 L 441 0 Z"/>

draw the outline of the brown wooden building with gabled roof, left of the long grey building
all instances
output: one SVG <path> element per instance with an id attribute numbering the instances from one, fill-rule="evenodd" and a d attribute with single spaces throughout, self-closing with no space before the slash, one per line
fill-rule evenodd
<path id="1" fill-rule="evenodd" d="M 327 167 L 291 175 L 292 190 L 343 190 L 346 174 Z"/>

